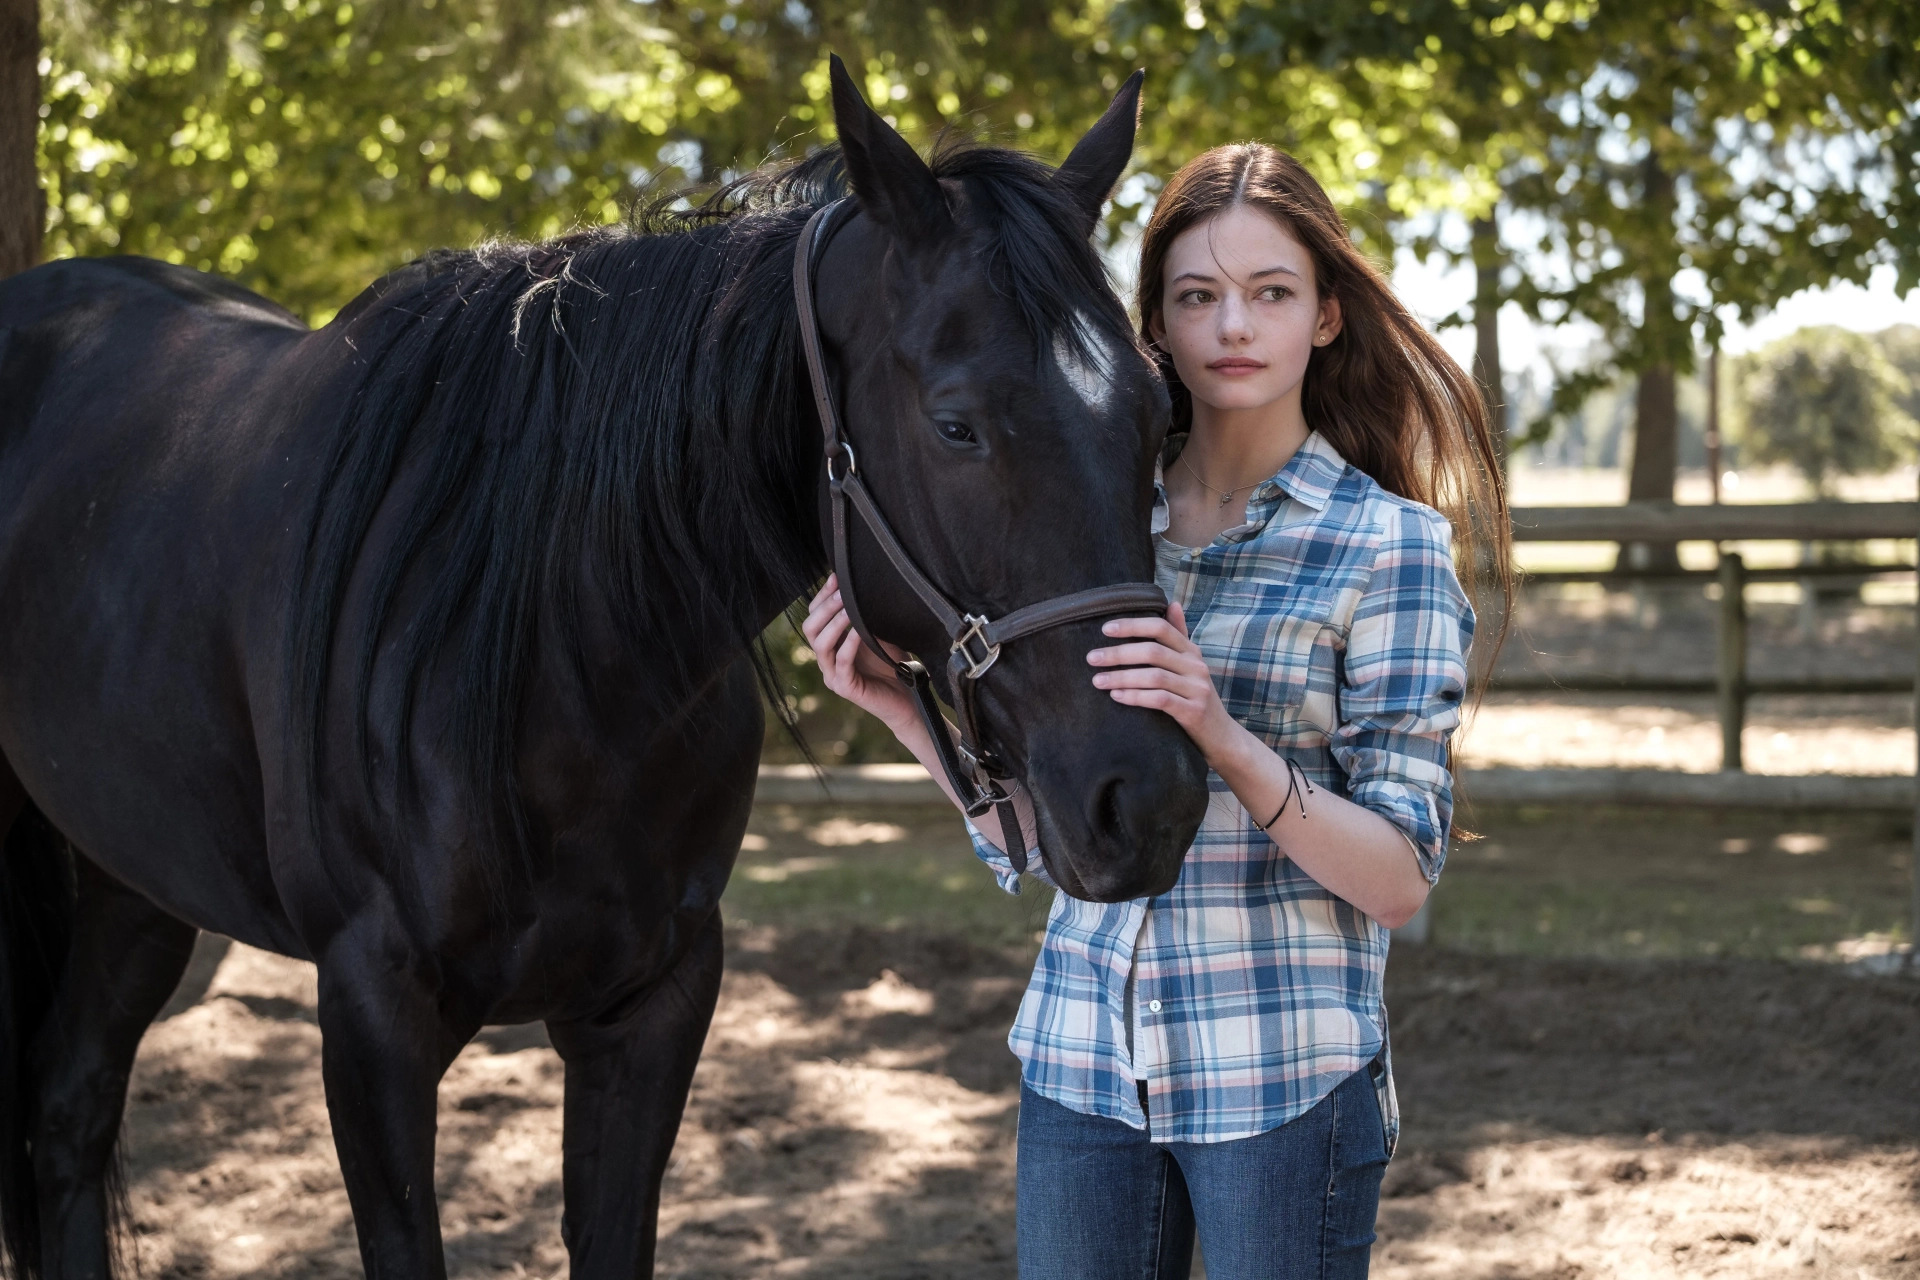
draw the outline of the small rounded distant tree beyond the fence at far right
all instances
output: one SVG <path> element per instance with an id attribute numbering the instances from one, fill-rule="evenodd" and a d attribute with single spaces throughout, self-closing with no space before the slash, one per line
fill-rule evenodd
<path id="1" fill-rule="evenodd" d="M 1912 382 L 1874 336 L 1803 328 L 1734 361 L 1743 462 L 1788 464 L 1818 497 L 1914 457 Z"/>

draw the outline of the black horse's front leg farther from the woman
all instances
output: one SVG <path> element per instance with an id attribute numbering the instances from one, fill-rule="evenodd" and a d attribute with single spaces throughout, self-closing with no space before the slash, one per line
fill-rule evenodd
<path id="1" fill-rule="evenodd" d="M 321 1079 L 369 1276 L 447 1274 L 434 1196 L 436 1090 L 480 1031 L 455 1021 L 394 921 L 349 925 L 321 956 Z"/>

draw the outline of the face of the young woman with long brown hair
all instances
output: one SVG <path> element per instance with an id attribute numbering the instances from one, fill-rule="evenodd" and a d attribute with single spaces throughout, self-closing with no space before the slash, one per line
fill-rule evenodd
<path id="1" fill-rule="evenodd" d="M 1281 223 L 1231 205 L 1175 236 L 1162 269 L 1154 342 L 1196 403 L 1263 409 L 1298 395 L 1313 347 L 1340 332 L 1313 257 Z"/>

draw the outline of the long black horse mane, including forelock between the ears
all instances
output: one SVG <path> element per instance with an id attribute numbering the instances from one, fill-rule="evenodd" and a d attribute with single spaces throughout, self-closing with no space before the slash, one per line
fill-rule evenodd
<path id="1" fill-rule="evenodd" d="M 964 140 L 943 140 L 929 163 L 966 190 L 985 269 L 1031 328 L 1035 359 L 1054 334 L 1085 353 L 1075 313 L 1131 342 L 1050 167 Z M 655 201 L 624 226 L 428 253 L 336 319 L 357 372 L 334 411 L 288 597 L 290 731 L 311 821 L 338 662 L 351 662 L 359 777 L 378 794 L 372 672 L 403 587 L 394 796 L 415 794 L 415 700 L 444 664 L 457 681 L 447 729 L 495 835 L 495 890 L 538 869 L 515 785 L 516 727 L 538 635 L 559 637 L 586 683 L 584 566 L 616 633 L 653 643 L 660 679 L 689 676 L 699 654 L 672 637 L 691 618 L 718 620 L 733 647 L 758 652 L 768 595 L 791 601 L 826 572 L 820 426 L 791 263 L 806 217 L 847 194 L 839 148 L 826 148 L 691 207 Z M 403 470 L 409 487 L 390 495 Z M 371 549 L 390 497 L 394 533 Z M 363 555 L 374 557 L 369 606 L 340 633 Z M 432 576 L 413 581 L 422 557 Z M 756 666 L 772 693 L 764 652 Z"/>

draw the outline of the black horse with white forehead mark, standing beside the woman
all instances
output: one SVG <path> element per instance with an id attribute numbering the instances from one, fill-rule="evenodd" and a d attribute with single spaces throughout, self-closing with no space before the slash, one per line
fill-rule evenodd
<path id="1" fill-rule="evenodd" d="M 0 284 L 0 1215 L 111 1270 L 140 1034 L 211 929 L 319 965 L 369 1274 L 445 1272 L 434 1094 L 488 1023 L 566 1063 L 576 1276 L 647 1274 L 762 733 L 753 641 L 826 568 L 789 269 L 914 558 L 998 614 L 1150 581 L 1167 399 L 1089 234 L 1139 79 L 1048 169 L 922 161 L 833 67 L 841 148 L 693 213 L 436 253 L 309 332 L 142 259 Z M 879 635 L 945 635 L 856 533 Z M 1204 768 L 1083 622 L 981 687 L 1048 867 L 1171 887 Z M 764 668 L 762 668 L 764 672 Z"/>

